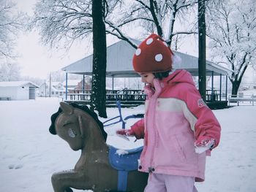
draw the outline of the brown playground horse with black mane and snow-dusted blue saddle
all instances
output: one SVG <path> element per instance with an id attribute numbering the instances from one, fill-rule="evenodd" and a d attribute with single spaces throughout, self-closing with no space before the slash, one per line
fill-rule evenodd
<path id="1" fill-rule="evenodd" d="M 72 150 L 81 150 L 74 169 L 52 175 L 55 192 L 71 192 L 72 188 L 94 192 L 144 190 L 148 174 L 138 172 L 142 147 L 120 154 L 107 145 L 103 124 L 88 107 L 61 102 L 51 116 L 49 131 L 68 142 Z"/>

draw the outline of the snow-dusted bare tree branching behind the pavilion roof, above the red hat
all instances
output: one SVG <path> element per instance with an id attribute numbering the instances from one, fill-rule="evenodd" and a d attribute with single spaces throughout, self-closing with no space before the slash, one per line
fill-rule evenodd
<path id="1" fill-rule="evenodd" d="M 171 44 L 173 37 L 178 34 L 195 34 L 195 28 L 190 28 L 189 31 L 174 31 L 174 23 L 177 18 L 182 18 L 189 7 L 197 3 L 197 0 L 133 0 L 129 1 L 129 5 L 124 9 L 119 9 L 116 17 L 116 12 L 108 15 L 105 18 L 107 24 L 106 31 L 113 34 L 119 39 L 124 39 L 129 42 L 132 47 L 137 47 L 132 39 L 124 34 L 121 30 L 124 26 L 134 26 L 135 23 L 146 28 L 146 31 L 155 32 L 160 37 L 167 40 L 168 45 Z M 183 19 L 184 20 L 184 19 Z"/>

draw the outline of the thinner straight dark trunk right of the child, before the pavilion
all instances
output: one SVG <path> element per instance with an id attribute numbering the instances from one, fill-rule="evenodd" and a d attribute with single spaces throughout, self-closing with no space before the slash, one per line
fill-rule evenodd
<path id="1" fill-rule="evenodd" d="M 206 101 L 206 4 L 198 0 L 198 82 L 199 92 Z"/>

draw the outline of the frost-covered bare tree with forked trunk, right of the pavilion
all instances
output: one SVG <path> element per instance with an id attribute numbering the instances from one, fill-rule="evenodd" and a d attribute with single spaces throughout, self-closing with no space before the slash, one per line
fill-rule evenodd
<path id="1" fill-rule="evenodd" d="M 256 2 L 215 1 L 208 12 L 208 37 L 214 58 L 233 70 L 229 79 L 232 95 L 238 88 L 249 65 L 255 66 Z"/>

